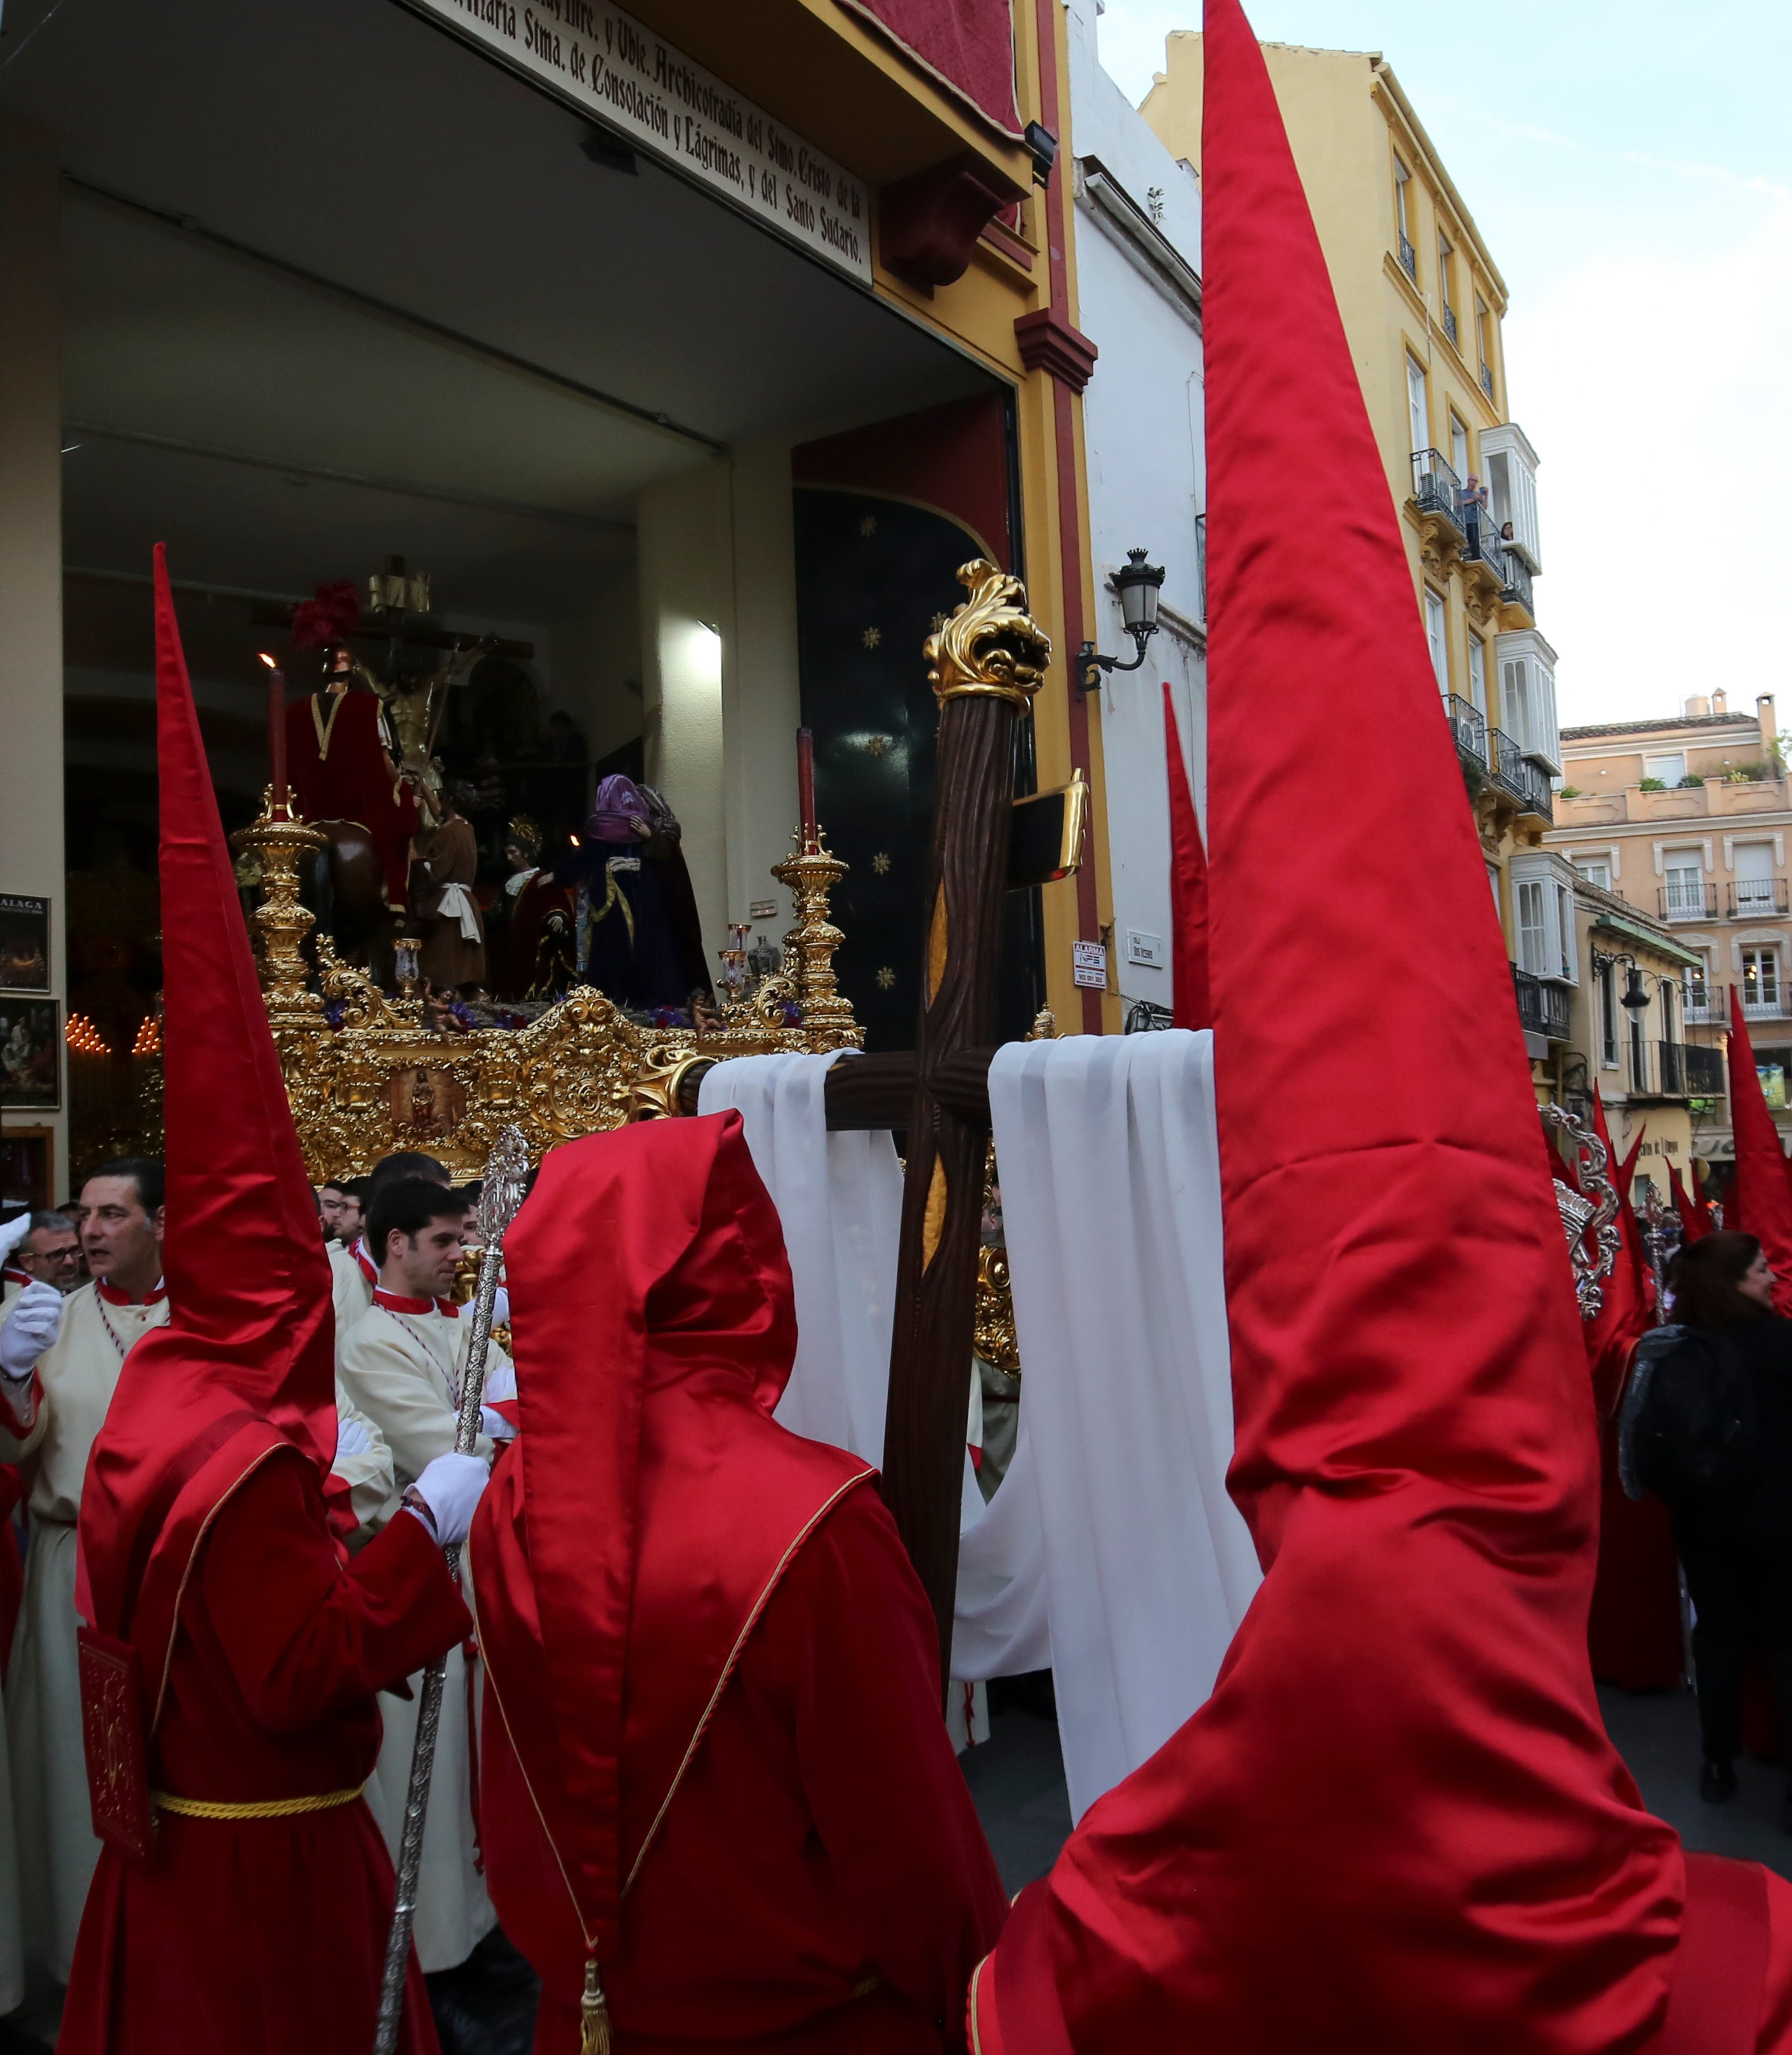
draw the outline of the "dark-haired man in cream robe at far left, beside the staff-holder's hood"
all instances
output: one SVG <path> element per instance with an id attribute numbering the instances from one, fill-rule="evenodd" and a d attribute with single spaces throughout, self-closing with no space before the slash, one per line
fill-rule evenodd
<path id="1" fill-rule="evenodd" d="M 80 1245 L 92 1282 L 60 1297 L 33 1282 L 0 1330 L 0 1461 L 25 1463 L 31 1554 L 6 1677 L 12 1810 L 27 1958 L 68 1983 L 88 1878 L 99 1860 L 80 1741 L 74 1529 L 86 1457 L 125 1356 L 169 1323 L 162 1291 L 162 1165 L 113 1157 L 80 1188 Z M 35 1356 L 16 1330 L 31 1313 Z"/>

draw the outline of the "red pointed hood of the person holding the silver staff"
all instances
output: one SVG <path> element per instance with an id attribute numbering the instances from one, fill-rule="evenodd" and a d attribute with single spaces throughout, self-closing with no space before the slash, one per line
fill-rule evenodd
<path id="1" fill-rule="evenodd" d="M 90 1617 L 107 1632 L 129 1617 L 150 1673 L 173 1632 L 162 1580 L 179 1582 L 245 1463 L 292 1449 L 325 1478 L 337 1434 L 329 1262 L 160 545 L 156 762 L 171 1319 L 125 1360 L 80 1515 Z"/>

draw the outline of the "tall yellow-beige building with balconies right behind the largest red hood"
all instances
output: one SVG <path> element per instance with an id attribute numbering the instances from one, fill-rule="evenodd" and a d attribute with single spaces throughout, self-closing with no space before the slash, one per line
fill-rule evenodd
<path id="1" fill-rule="evenodd" d="M 1535 910 L 1558 904 L 1556 888 L 1570 904 L 1574 873 L 1541 855 L 1515 861 L 1541 849 L 1560 742 L 1556 651 L 1537 631 L 1533 596 L 1543 569 L 1537 452 L 1506 401 L 1506 284 L 1383 58 L 1286 43 L 1266 43 L 1264 58 L 1404 516 L 1537 1085 L 1550 1089 L 1570 986 L 1527 964 L 1517 880 L 1523 871 L 1537 888 L 1525 894 Z M 1141 111 L 1173 156 L 1196 164 L 1200 99 L 1202 39 L 1175 33 Z M 1539 964 L 1560 958 L 1560 947 L 1537 954 Z"/>

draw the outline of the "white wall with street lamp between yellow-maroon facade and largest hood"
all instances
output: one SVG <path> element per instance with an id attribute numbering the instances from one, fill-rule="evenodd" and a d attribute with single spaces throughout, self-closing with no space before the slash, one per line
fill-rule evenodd
<path id="1" fill-rule="evenodd" d="M 1206 643 L 1196 514 L 1206 506 L 1200 325 L 1200 187 L 1102 70 L 1097 0 L 1069 0 L 1071 150 L 1077 160 L 1079 325 L 1102 351 L 1083 395 L 1097 647 L 1132 656 L 1106 580 L 1128 549 L 1165 569 L 1165 621 L 1145 668 L 1102 686 L 1114 964 L 1126 1003 L 1171 1005 L 1169 799 L 1163 680 L 1169 680 L 1206 816 Z M 1106 181 L 1108 193 L 1099 187 Z M 1126 208 L 1130 201 L 1130 210 Z M 1116 222 L 1116 214 L 1120 220 Z M 1128 935 L 1155 935 L 1161 968 L 1130 962 Z"/>

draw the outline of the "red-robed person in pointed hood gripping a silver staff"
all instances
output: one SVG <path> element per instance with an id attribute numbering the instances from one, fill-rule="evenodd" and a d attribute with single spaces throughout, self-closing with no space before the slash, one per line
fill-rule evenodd
<path id="1" fill-rule="evenodd" d="M 393 1911 L 366 1804 L 208 1819 L 166 1798 L 263 1808 L 356 1792 L 378 1751 L 374 1691 L 469 1617 L 411 1515 L 353 1564 L 339 1545 L 329 1264 L 160 549 L 156 748 L 171 1319 L 123 1362 L 82 1488 L 76 1603 L 117 1665 L 95 1689 L 84 1662 L 82 1716 L 90 1739 L 111 1736 L 113 1778 L 60 2047 L 349 2051 L 372 2047 Z M 117 1689 L 127 1665 L 136 1704 Z M 154 1829 L 123 1854 L 138 1821 L 117 1771 L 136 1751 L 115 1736 L 132 1730 Z M 434 2047 L 413 1958 L 405 2049 Z"/>

